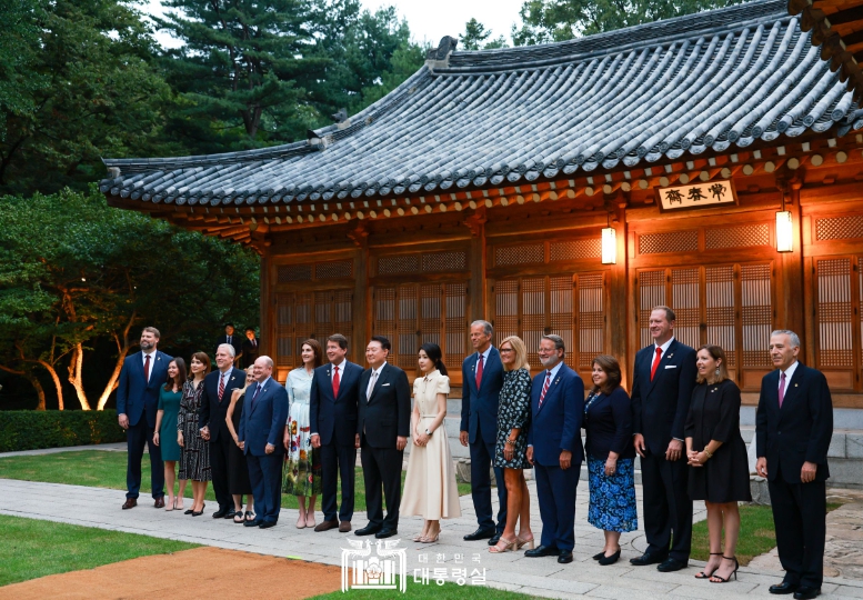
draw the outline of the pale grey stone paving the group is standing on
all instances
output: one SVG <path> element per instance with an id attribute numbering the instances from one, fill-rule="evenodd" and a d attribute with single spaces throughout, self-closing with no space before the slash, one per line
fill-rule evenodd
<path id="1" fill-rule="evenodd" d="M 532 498 L 532 522 L 539 538 L 540 519 L 535 488 L 529 483 Z M 638 497 L 641 498 L 639 487 Z M 22 518 L 46 519 L 87 527 L 97 527 L 130 533 L 142 533 L 197 542 L 219 548 L 244 550 L 262 554 L 300 558 L 327 564 L 340 564 L 342 549 L 349 548 L 347 538 L 360 540 L 353 533 L 342 534 L 334 530 L 315 533 L 311 529 L 298 530 L 295 510 L 282 510 L 279 526 L 269 530 L 243 528 L 210 514 L 214 507 L 208 506 L 200 518 L 183 516 L 179 511 L 152 508 L 149 498 L 129 511 L 120 510 L 124 492 L 100 488 L 37 483 L 0 479 L 0 497 L 13 499 L 4 502 L 0 513 Z M 187 500 L 188 502 L 188 500 Z M 464 557 L 463 567 L 471 570 L 484 568 L 486 584 L 514 590 L 532 596 L 549 598 L 625 598 L 633 594 L 639 600 L 653 598 L 727 598 L 743 599 L 752 596 L 769 598 L 767 588 L 781 580 L 781 573 L 762 568 L 742 568 L 740 580 L 722 588 L 706 581 L 696 581 L 693 576 L 703 563 L 691 561 L 690 567 L 676 573 L 660 573 L 654 567 L 634 568 L 629 559 L 640 554 L 644 547 L 643 531 L 624 534 L 621 560 L 610 567 L 600 567 L 591 556 L 602 548 L 602 533 L 586 522 L 586 486 L 579 486 L 576 502 L 575 561 L 558 564 L 553 558 L 529 559 L 523 552 L 490 554 L 484 542 L 465 542 L 462 536 L 475 529 L 470 497 L 462 497 L 463 516 L 443 522 L 440 541 L 421 544 L 410 541 L 419 531 L 421 520 L 402 518 L 399 528 L 401 547 L 408 548 L 408 573 L 414 569 L 444 568 L 448 571 L 462 566 L 455 562 L 455 554 Z M 641 514 L 641 507 L 639 513 Z M 704 509 L 696 506 L 695 519 L 704 518 Z M 319 513 L 320 519 L 320 513 Z M 353 527 L 365 524 L 365 514 L 354 516 Z M 857 530 L 860 533 L 860 530 Z M 853 540 L 852 541 L 853 544 Z M 856 543 L 860 551 L 861 544 Z M 438 554 L 444 562 L 438 564 Z M 474 558 L 479 556 L 479 562 Z M 423 558 L 428 562 L 423 561 Z M 827 578 L 822 588 L 825 600 L 863 598 L 863 577 L 857 580 Z"/>

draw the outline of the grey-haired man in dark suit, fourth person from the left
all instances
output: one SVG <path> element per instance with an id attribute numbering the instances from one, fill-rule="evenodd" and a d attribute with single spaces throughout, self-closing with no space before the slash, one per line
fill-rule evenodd
<path id="1" fill-rule="evenodd" d="M 228 454 L 233 444 L 233 437 L 228 429 L 225 418 L 228 407 L 231 406 L 231 393 L 245 386 L 245 371 L 233 368 L 233 346 L 229 343 L 221 343 L 215 350 L 218 369 L 203 379 L 203 398 L 198 424 L 201 428 L 201 437 L 210 440 L 213 493 L 215 501 L 219 502 L 219 510 L 213 512 L 213 519 L 232 519 L 235 513 L 228 484 Z"/>

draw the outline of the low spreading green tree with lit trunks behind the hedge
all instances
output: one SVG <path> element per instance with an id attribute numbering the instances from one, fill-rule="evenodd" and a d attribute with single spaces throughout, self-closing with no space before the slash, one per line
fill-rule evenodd
<path id="1" fill-rule="evenodd" d="M 228 316 L 254 323 L 258 284 L 249 250 L 109 208 L 96 190 L 0 198 L 0 369 L 31 382 L 42 369 L 60 408 L 63 380 L 82 409 L 104 408 L 143 324 L 210 349 Z M 87 383 L 106 339 L 112 362 Z"/>

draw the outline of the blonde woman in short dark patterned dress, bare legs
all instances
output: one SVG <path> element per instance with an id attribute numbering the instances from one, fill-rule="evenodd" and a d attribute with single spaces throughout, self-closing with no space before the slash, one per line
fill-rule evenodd
<path id="1" fill-rule="evenodd" d="M 531 420 L 531 373 L 528 348 L 521 338 L 511 336 L 500 343 L 503 363 L 503 388 L 498 404 L 498 439 L 494 444 L 494 466 L 503 469 L 506 484 L 506 527 L 500 541 L 489 548 L 498 553 L 519 550 L 524 544 L 533 548 L 531 532 L 531 499 L 524 469 L 528 462 L 528 428 Z M 515 522 L 519 534 L 515 534 Z"/>

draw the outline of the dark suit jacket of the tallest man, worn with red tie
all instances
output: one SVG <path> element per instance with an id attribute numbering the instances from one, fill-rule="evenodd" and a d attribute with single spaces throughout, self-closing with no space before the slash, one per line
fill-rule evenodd
<path id="1" fill-rule="evenodd" d="M 662 354 L 653 381 L 650 370 L 654 344 L 635 354 L 632 378 L 632 432 L 644 436 L 648 450 L 664 454 L 672 438 L 683 440 L 686 416 L 695 388 L 695 350 L 676 338 Z"/>

